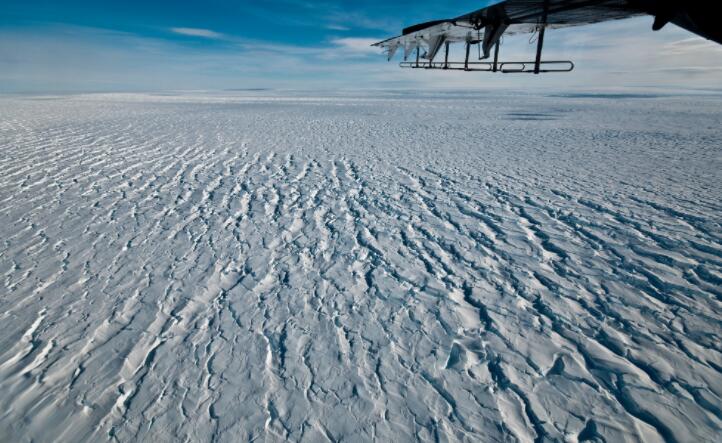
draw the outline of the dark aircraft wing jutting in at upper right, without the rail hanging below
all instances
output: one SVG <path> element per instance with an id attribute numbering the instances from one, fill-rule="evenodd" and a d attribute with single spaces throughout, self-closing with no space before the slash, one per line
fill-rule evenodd
<path id="1" fill-rule="evenodd" d="M 484 8 L 456 18 L 408 27 L 402 35 L 374 46 L 383 48 L 389 60 L 399 49 L 403 50 L 404 59 L 418 50 L 421 58 L 433 60 L 442 45 L 466 42 L 482 45 L 483 58 L 487 58 L 502 35 L 644 14 L 655 17 L 655 30 L 672 22 L 722 43 L 722 26 L 718 26 L 714 3 L 704 0 L 491 0 Z"/>

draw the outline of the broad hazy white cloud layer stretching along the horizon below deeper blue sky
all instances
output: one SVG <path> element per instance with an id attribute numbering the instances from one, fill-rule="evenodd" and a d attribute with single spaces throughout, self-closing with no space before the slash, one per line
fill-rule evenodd
<path id="1" fill-rule="evenodd" d="M 0 91 L 718 87 L 722 62 L 710 52 L 718 46 L 674 27 L 654 33 L 648 25 L 633 19 L 550 32 L 545 58 L 572 59 L 577 69 L 538 77 L 399 69 L 398 58 L 386 63 L 370 46 L 383 35 L 294 45 L 193 33 L 224 43 L 207 48 L 96 28 L 0 28 Z M 531 60 L 534 49 L 526 36 L 509 36 L 502 59 Z M 463 59 L 463 45 L 452 46 L 451 59 Z"/>

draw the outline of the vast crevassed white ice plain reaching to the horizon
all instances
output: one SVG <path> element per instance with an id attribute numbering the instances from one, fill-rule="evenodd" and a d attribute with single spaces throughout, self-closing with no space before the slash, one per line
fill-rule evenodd
<path id="1" fill-rule="evenodd" d="M 722 439 L 722 97 L 0 98 L 0 440 Z"/>

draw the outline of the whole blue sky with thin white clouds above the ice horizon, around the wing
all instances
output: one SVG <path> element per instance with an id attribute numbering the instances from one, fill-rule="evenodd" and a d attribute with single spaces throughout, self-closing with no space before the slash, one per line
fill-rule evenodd
<path id="1" fill-rule="evenodd" d="M 638 17 L 547 34 L 572 74 L 398 68 L 371 43 L 489 0 L 3 0 L 0 92 L 224 89 L 722 89 L 722 45 Z M 461 48 L 452 57 L 461 58 Z M 527 36 L 502 58 L 533 59 Z"/>

